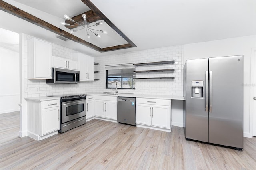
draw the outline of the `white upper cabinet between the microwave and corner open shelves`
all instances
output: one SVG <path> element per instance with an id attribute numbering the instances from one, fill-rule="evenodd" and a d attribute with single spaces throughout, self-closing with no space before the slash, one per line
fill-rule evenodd
<path id="1" fill-rule="evenodd" d="M 78 57 L 80 81 L 94 81 L 94 58 L 82 53 L 74 53 Z"/>

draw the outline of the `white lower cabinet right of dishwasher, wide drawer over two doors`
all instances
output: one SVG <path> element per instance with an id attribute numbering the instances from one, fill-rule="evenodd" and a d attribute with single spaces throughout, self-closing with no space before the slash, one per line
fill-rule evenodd
<path id="1" fill-rule="evenodd" d="M 171 101 L 165 99 L 136 98 L 136 124 L 138 127 L 171 131 Z"/>

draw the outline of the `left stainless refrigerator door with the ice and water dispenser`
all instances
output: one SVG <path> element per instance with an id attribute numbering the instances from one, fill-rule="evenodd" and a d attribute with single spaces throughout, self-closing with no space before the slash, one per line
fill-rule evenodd
<path id="1" fill-rule="evenodd" d="M 187 60 L 186 70 L 186 107 L 185 137 L 188 139 L 208 142 L 208 110 L 206 111 L 206 73 L 208 58 Z M 203 97 L 192 97 L 191 81 L 203 81 Z M 208 80 L 207 80 L 208 81 Z"/>

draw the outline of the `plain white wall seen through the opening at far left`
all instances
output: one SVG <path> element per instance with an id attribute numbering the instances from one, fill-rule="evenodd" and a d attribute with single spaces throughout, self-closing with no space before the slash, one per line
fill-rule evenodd
<path id="1" fill-rule="evenodd" d="M 19 53 L 1 47 L 0 113 L 19 111 Z"/>

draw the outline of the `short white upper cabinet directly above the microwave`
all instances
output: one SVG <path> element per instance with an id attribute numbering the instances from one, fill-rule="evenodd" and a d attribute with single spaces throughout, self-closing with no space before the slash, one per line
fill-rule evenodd
<path id="1" fill-rule="evenodd" d="M 78 62 L 71 59 L 53 56 L 53 67 L 78 70 Z"/>

